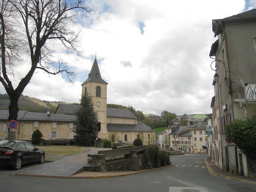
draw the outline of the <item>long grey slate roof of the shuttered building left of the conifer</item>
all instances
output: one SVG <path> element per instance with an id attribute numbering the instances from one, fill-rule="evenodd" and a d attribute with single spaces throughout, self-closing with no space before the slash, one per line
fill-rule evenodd
<path id="1" fill-rule="evenodd" d="M 7 120 L 8 110 L 0 110 L 0 120 Z M 19 111 L 17 120 L 73 122 L 76 116 Z"/>

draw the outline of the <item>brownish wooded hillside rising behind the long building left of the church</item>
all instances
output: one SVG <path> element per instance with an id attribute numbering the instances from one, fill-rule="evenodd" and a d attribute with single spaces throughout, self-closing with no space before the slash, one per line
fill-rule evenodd
<path id="1" fill-rule="evenodd" d="M 47 111 L 50 111 L 51 113 L 55 113 L 59 103 L 66 104 L 66 102 L 42 101 L 40 99 L 22 95 L 20 96 L 18 107 L 20 111 L 30 111 L 37 113 L 47 113 Z M 0 94 L 0 110 L 9 110 L 9 105 L 9 96 L 7 94 Z"/>

